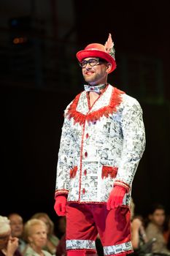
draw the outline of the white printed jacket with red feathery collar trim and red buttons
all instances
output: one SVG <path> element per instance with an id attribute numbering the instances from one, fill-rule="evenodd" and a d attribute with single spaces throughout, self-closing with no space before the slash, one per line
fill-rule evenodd
<path id="1" fill-rule="evenodd" d="M 55 196 L 106 203 L 117 184 L 127 189 L 123 205 L 128 206 L 144 147 L 142 108 L 136 99 L 108 85 L 90 108 L 88 93 L 82 91 L 65 110 Z"/>

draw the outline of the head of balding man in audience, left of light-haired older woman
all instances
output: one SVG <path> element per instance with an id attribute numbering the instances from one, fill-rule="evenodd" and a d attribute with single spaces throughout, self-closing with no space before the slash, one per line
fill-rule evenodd
<path id="1" fill-rule="evenodd" d="M 9 214 L 12 237 L 21 238 L 23 235 L 23 218 L 16 213 Z"/>

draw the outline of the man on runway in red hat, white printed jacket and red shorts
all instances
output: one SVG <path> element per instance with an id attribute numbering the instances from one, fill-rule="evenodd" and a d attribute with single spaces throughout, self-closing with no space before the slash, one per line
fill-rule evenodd
<path id="1" fill-rule="evenodd" d="M 136 99 L 107 83 L 116 68 L 111 34 L 77 53 L 88 83 L 65 110 L 55 190 L 55 211 L 66 215 L 68 256 L 92 255 L 99 233 L 104 255 L 131 246 L 131 184 L 145 137 Z"/>

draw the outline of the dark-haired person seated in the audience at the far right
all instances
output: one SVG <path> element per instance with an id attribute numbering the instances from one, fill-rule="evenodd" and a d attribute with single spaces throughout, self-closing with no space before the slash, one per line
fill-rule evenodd
<path id="1" fill-rule="evenodd" d="M 161 204 L 152 205 L 149 219 L 150 222 L 147 225 L 146 234 L 148 239 L 155 238 L 155 243 L 152 245 L 152 252 L 170 255 L 165 238 L 163 237 L 163 225 L 166 219 L 164 206 Z"/>

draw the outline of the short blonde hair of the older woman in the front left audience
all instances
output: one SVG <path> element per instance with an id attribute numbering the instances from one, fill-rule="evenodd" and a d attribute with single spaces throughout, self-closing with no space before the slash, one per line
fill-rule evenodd
<path id="1" fill-rule="evenodd" d="M 42 225 L 45 227 L 45 230 L 47 230 L 47 226 L 45 225 L 45 222 L 43 222 L 41 219 L 29 219 L 28 222 L 24 225 L 24 238 L 28 242 L 28 236 L 31 235 L 31 228 L 36 225 Z"/>

